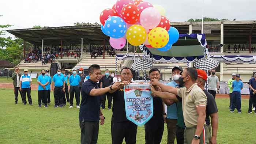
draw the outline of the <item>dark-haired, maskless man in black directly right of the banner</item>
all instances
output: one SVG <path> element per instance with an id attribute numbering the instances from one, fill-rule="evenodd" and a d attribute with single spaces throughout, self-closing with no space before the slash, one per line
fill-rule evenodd
<path id="1" fill-rule="evenodd" d="M 151 79 L 160 79 L 160 71 L 157 68 L 150 69 L 149 77 Z M 160 144 L 163 136 L 163 101 L 159 97 L 153 97 L 154 112 L 153 117 L 145 124 L 146 144 Z"/>

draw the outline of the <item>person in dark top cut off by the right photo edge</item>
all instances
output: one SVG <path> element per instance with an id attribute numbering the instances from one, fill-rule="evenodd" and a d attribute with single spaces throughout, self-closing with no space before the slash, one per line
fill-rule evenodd
<path id="1" fill-rule="evenodd" d="M 256 105 L 256 73 L 253 75 L 253 78 L 249 80 L 250 90 L 250 99 L 249 99 L 249 108 L 248 114 L 252 113 L 252 105 Z M 256 111 L 254 111 L 256 114 Z"/>

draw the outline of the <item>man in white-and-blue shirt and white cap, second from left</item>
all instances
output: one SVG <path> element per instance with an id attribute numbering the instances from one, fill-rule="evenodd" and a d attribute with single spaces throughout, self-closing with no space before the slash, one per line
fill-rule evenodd
<path id="1" fill-rule="evenodd" d="M 20 76 L 20 91 L 22 92 L 22 96 L 23 96 L 23 104 L 26 105 L 27 101 L 26 101 L 26 93 L 27 93 L 27 99 L 29 100 L 29 105 L 32 106 L 32 99 L 31 99 L 31 85 L 32 85 L 32 78 L 31 76 L 28 74 L 29 70 L 28 69 L 24 69 L 24 74 L 22 76 Z"/>

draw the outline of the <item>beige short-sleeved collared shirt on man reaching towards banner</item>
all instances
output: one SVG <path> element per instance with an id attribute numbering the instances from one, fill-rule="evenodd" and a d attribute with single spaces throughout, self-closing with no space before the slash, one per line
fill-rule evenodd
<path id="1" fill-rule="evenodd" d="M 182 111 L 184 122 L 187 127 L 197 125 L 198 113 L 196 107 L 206 106 L 207 97 L 203 90 L 193 84 L 188 90 L 186 87 L 178 89 L 178 96 L 182 98 Z"/>

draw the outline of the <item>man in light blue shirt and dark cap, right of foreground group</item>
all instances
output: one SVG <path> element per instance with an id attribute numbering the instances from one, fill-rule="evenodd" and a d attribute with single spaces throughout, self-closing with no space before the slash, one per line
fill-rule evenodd
<path id="1" fill-rule="evenodd" d="M 232 106 L 230 113 L 234 113 L 235 106 L 237 106 L 237 111 L 241 114 L 241 90 L 243 89 L 243 82 L 240 80 L 240 75 L 236 75 L 236 80 L 232 83 Z"/>

